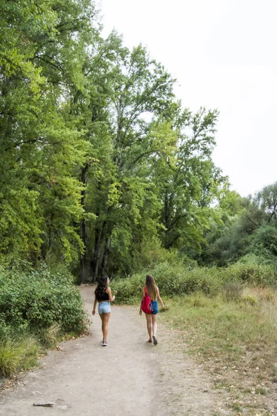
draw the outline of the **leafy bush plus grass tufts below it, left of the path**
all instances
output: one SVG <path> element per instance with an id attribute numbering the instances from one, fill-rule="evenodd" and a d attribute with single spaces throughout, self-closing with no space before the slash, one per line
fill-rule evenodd
<path id="1" fill-rule="evenodd" d="M 66 270 L 22 262 L 0 269 L 0 378 L 34 367 L 42 346 L 54 347 L 60 333 L 82 332 L 85 318 Z"/>

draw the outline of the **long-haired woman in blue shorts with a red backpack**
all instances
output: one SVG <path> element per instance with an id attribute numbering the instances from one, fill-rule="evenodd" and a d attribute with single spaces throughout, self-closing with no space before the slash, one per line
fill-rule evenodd
<path id="1" fill-rule="evenodd" d="M 158 300 L 161 303 L 161 307 L 164 308 L 163 300 L 161 299 L 159 288 L 154 281 L 153 277 L 151 275 L 146 276 L 145 280 L 145 286 L 143 286 L 143 296 L 145 293 L 148 293 L 148 295 L 151 298 L 151 313 L 145 313 L 146 317 L 146 324 L 147 329 L 149 333 L 149 340 L 148 343 L 154 343 L 154 345 L 157 345 L 157 318 L 158 318 Z M 142 309 L 139 310 L 139 314 L 142 315 L 143 311 Z"/>

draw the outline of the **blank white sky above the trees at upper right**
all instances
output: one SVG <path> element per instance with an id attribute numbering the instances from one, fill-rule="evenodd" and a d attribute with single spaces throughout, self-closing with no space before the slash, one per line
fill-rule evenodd
<path id="1" fill-rule="evenodd" d="M 277 1 L 99 0 L 103 35 L 148 46 L 184 107 L 218 108 L 213 160 L 241 196 L 277 181 Z"/>

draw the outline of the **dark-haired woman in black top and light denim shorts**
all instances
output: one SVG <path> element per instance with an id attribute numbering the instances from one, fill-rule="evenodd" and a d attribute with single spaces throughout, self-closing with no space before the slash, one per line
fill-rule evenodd
<path id="1" fill-rule="evenodd" d="M 103 347 L 106 347 L 109 316 L 111 315 L 111 302 L 113 302 L 116 299 L 115 295 L 111 296 L 111 288 L 109 288 L 109 277 L 103 276 L 102 279 L 100 279 L 94 293 L 96 297 L 93 304 L 92 315 L 95 315 L 96 304 L 98 302 L 98 313 L 102 321 L 102 345 Z"/>

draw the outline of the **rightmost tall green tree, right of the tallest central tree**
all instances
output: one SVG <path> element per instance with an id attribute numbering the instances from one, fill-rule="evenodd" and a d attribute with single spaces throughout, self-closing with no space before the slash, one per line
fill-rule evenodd
<path id="1" fill-rule="evenodd" d="M 222 182 L 211 160 L 218 112 L 201 108 L 196 114 L 175 107 L 172 128 L 177 148 L 157 164 L 157 188 L 162 201 L 161 239 L 165 248 L 186 254 L 199 250 L 208 227 L 211 202 Z"/>

